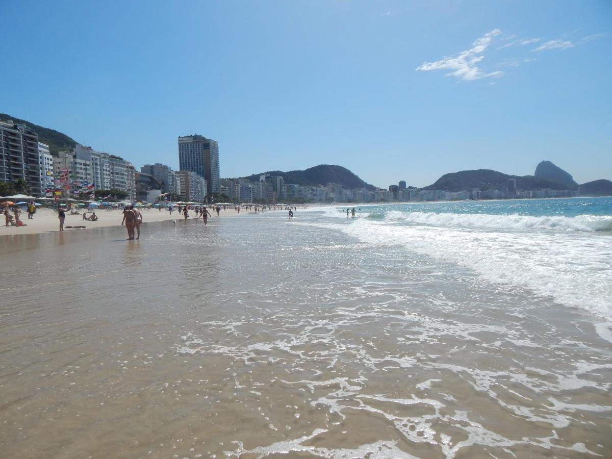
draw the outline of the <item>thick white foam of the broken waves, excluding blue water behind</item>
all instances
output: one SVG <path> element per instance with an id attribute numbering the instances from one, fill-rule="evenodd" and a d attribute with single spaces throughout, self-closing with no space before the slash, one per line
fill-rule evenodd
<path id="1" fill-rule="evenodd" d="M 430 223 L 422 223 L 425 221 Z M 450 224 L 443 225 L 445 221 Z M 528 288 L 561 304 L 612 319 L 612 238 L 592 233 L 595 226 L 604 226 L 603 221 L 602 217 L 590 220 L 588 216 L 391 211 L 384 220 L 357 218 L 348 224 L 337 222 L 330 226 L 367 245 L 401 246 L 468 267 L 489 281 Z M 480 226 L 472 223 L 476 227 L 468 227 L 468 222 Z M 515 226 L 510 226 L 512 222 Z M 560 222 L 565 226 L 552 226 Z M 596 222 L 589 233 L 578 230 L 587 228 L 588 222 Z M 530 228 L 527 225 L 540 226 L 526 231 Z"/>

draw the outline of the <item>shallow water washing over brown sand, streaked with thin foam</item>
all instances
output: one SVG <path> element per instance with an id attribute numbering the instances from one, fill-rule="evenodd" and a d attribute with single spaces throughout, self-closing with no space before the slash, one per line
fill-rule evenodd
<path id="1" fill-rule="evenodd" d="M 608 325 L 316 218 L 1 238 L 2 457 L 610 457 Z"/>

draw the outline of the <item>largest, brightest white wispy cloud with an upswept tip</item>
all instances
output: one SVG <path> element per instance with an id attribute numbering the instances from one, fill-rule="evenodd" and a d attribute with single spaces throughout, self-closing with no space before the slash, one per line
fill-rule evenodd
<path id="1" fill-rule="evenodd" d="M 473 81 L 480 78 L 488 78 L 491 76 L 501 76 L 503 72 L 483 72 L 478 66 L 479 62 L 484 59 L 482 53 L 489 47 L 493 38 L 501 34 L 499 29 L 482 35 L 474 43 L 472 48 L 466 51 L 461 51 L 455 56 L 444 57 L 436 62 L 424 62 L 417 67 L 417 71 L 428 72 L 430 70 L 451 70 L 447 75 L 455 76 L 459 80 Z"/>

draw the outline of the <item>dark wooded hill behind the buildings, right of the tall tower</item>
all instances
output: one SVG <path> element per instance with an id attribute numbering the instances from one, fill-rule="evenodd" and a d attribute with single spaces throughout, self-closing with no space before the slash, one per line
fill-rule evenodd
<path id="1" fill-rule="evenodd" d="M 341 185 L 345 189 L 376 189 L 374 185 L 367 184 L 348 169 L 342 166 L 332 166 L 329 164 L 321 164 L 304 171 L 268 171 L 263 172 L 261 174 L 253 174 L 252 176 L 242 178 L 248 181 L 258 182 L 259 176 L 264 174 L 268 174 L 271 176 L 282 176 L 285 179 L 286 184 L 315 187 L 319 185 L 326 185 L 328 183 L 335 183 Z"/>

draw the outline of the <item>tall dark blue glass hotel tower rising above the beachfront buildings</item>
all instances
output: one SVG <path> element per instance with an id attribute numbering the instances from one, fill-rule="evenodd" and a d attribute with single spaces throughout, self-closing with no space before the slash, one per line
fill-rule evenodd
<path id="1" fill-rule="evenodd" d="M 179 167 L 204 177 L 208 195 L 221 192 L 219 144 L 201 135 L 179 137 Z"/>

